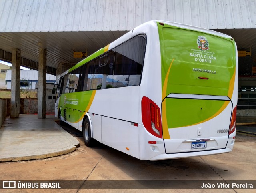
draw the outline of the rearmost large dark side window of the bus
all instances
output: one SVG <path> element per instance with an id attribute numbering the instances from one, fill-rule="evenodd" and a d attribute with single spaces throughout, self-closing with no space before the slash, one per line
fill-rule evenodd
<path id="1" fill-rule="evenodd" d="M 113 76 L 116 87 L 140 84 L 145 48 L 146 37 L 139 35 L 113 49 L 116 52 Z"/>

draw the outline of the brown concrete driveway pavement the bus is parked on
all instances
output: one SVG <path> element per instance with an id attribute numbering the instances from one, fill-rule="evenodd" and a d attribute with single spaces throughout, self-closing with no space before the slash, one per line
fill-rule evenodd
<path id="1" fill-rule="evenodd" d="M 82 133 L 64 127 L 79 142 L 76 151 L 48 159 L 0 163 L 0 180 L 256 180 L 256 137 L 237 135 L 231 153 L 164 161 L 141 161 L 102 144 L 89 148 Z M 114 181 L 115 182 L 115 181 Z M 66 182 L 68 183 L 68 182 Z M 255 192 L 255 189 L 94 189 L 59 192 Z M 131 187 L 130 187 L 131 188 Z M 4 192 L 16 192 L 10 190 Z M 31 190 L 22 192 L 56 192 Z"/>

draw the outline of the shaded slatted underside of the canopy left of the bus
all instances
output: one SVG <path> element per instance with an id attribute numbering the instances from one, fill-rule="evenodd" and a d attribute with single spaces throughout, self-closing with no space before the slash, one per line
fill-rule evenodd
<path id="1" fill-rule="evenodd" d="M 58 68 L 63 63 L 77 63 L 73 52 L 86 52 L 88 56 L 110 44 L 125 32 L 2 32 L 0 49 L 12 52 L 21 49 L 21 55 L 38 61 L 38 48 L 47 48 L 47 66 Z"/>

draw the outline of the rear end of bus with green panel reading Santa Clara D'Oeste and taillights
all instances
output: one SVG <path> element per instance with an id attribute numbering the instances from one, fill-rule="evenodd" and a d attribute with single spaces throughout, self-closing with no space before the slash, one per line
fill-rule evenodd
<path id="1" fill-rule="evenodd" d="M 151 136 L 148 159 L 232 151 L 238 94 L 234 40 L 192 26 L 156 25 L 162 93 L 160 104 L 151 101 L 150 95 L 142 98 L 142 121 Z M 151 124 L 145 119 L 145 109 L 150 112 Z"/>

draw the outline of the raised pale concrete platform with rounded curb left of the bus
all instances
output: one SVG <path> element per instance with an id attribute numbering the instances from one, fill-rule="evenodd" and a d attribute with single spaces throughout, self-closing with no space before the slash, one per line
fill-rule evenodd
<path id="1" fill-rule="evenodd" d="M 6 117 L 0 129 L 0 161 L 43 159 L 76 150 L 79 142 L 55 123 L 54 115 Z"/>

